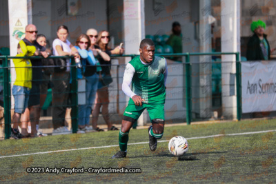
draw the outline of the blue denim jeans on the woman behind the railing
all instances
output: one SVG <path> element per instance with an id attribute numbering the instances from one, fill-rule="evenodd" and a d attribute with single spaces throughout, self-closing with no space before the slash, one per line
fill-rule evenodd
<path id="1" fill-rule="evenodd" d="M 99 75 L 86 76 L 86 105 L 79 105 L 79 125 L 89 125 L 92 105 L 95 103 Z"/>

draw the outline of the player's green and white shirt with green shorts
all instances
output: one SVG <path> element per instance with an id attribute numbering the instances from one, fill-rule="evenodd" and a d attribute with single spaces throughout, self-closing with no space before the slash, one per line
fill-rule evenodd
<path id="1" fill-rule="evenodd" d="M 164 57 L 155 56 L 151 63 L 144 63 L 140 57 L 135 57 L 127 65 L 124 73 L 122 89 L 130 97 L 124 116 L 137 120 L 147 109 L 150 120 L 164 121 L 164 103 L 166 99 L 166 77 L 168 68 Z M 130 83 L 132 82 L 132 90 Z M 132 96 L 141 96 L 143 105 L 135 105 Z"/>

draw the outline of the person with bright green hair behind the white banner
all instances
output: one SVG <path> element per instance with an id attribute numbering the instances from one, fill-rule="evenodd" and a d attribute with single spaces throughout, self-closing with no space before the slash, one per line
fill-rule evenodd
<path id="1" fill-rule="evenodd" d="M 270 50 L 270 45 L 264 34 L 266 23 L 258 20 L 251 23 L 251 31 L 254 33 L 250 37 L 247 44 L 246 58 L 248 61 L 270 60 L 270 53 L 275 49 Z"/>

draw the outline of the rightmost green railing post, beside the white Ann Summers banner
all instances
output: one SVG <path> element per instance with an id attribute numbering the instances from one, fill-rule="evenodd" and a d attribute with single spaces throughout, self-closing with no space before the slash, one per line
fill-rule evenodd
<path id="1" fill-rule="evenodd" d="M 239 52 L 237 52 L 235 55 L 236 55 L 236 81 L 237 81 L 237 121 L 240 121 L 241 115 L 242 115 L 241 62 L 239 61 Z"/>

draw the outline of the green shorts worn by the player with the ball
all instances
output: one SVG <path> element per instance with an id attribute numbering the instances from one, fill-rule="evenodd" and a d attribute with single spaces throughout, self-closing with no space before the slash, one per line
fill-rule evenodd
<path id="1" fill-rule="evenodd" d="M 128 104 L 124 112 L 124 116 L 128 116 L 132 119 L 137 120 L 139 119 L 139 116 L 142 114 L 142 112 L 145 109 L 148 110 L 148 114 L 150 115 L 150 121 L 152 121 L 152 119 L 165 120 L 164 103 L 157 103 L 157 104 L 143 103 L 142 106 Z"/>

